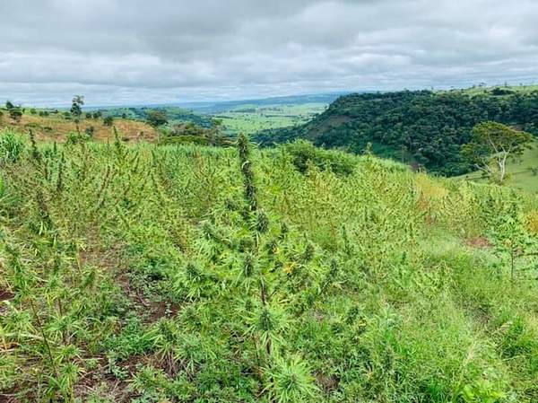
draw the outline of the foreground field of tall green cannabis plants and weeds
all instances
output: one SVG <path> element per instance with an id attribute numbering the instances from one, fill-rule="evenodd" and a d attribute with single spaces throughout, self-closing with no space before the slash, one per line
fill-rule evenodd
<path id="1" fill-rule="evenodd" d="M 0 135 L 0 401 L 538 401 L 538 198 L 305 143 Z"/>

